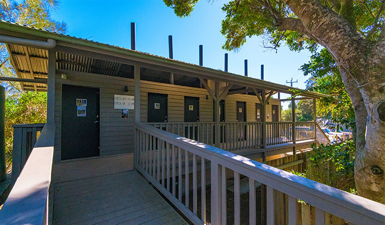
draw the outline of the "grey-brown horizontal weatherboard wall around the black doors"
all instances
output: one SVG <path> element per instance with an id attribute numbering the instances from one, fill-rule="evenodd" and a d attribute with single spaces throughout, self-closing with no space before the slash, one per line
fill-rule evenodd
<path id="1" fill-rule="evenodd" d="M 129 110 L 129 118 L 121 118 L 121 110 L 113 108 L 114 94 L 134 95 L 134 79 L 107 76 L 93 73 L 65 71 L 66 79 L 56 74 L 55 85 L 55 161 L 61 159 L 61 94 L 62 84 L 98 87 L 100 92 L 100 156 L 134 152 L 134 110 Z M 128 86 L 129 91 L 125 91 Z M 168 94 L 169 122 L 184 121 L 184 96 L 199 97 L 200 121 L 213 121 L 213 99 L 205 88 L 179 86 L 141 80 L 141 121 L 147 122 L 147 93 Z M 207 96 L 207 99 L 206 99 Z M 236 121 L 236 101 L 246 101 L 247 121 L 255 121 L 255 103 L 253 95 L 233 94 L 225 99 L 226 121 Z M 280 104 L 278 99 L 271 99 L 267 113 L 271 114 L 271 104 Z M 280 107 L 279 107 L 280 110 Z M 280 114 L 280 113 L 279 113 Z M 271 121 L 270 119 L 267 121 Z"/>

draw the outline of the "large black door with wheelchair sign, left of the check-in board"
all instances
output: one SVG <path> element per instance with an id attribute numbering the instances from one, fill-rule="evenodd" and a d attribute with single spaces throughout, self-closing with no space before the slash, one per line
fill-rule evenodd
<path id="1" fill-rule="evenodd" d="M 62 86 L 61 158 L 99 155 L 99 89 Z"/>

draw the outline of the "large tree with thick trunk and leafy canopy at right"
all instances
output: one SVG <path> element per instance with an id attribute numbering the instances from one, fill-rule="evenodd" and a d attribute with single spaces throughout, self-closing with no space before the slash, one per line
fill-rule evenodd
<path id="1" fill-rule="evenodd" d="M 178 16 L 198 0 L 164 0 Z M 222 9 L 225 49 L 262 35 L 292 50 L 325 47 L 338 65 L 356 121 L 359 195 L 385 203 L 385 0 L 231 0 Z"/>

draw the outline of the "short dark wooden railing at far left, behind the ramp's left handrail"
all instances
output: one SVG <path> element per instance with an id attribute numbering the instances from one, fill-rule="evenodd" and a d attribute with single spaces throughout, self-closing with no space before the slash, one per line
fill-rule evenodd
<path id="1" fill-rule="evenodd" d="M 34 124 L 15 124 L 14 142 L 12 150 L 12 185 L 15 184 L 19 177 L 24 164 L 31 154 L 35 146 L 39 132 L 42 131 L 45 123 Z"/>

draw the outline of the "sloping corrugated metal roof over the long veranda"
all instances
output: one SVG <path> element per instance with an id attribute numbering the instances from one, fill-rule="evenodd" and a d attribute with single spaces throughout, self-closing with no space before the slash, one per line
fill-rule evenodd
<path id="1" fill-rule="evenodd" d="M 138 58 L 138 61 L 143 59 L 145 60 L 150 59 L 151 61 L 154 62 L 154 64 L 164 63 L 166 66 L 172 66 L 172 67 L 178 66 L 180 68 L 183 68 L 184 70 L 194 69 L 196 70 L 196 73 L 206 74 L 206 75 L 215 77 L 215 79 L 218 79 L 219 77 L 223 77 L 223 79 L 231 80 L 231 82 L 234 82 L 235 84 L 244 83 L 243 85 L 246 85 L 245 83 L 250 83 L 255 86 L 260 86 L 261 88 L 267 87 L 272 90 L 274 89 L 276 91 L 282 91 L 287 93 L 293 93 L 292 90 L 296 89 L 296 90 L 302 91 L 301 95 L 317 97 L 317 98 L 321 96 L 328 96 L 326 94 L 305 91 L 299 88 L 294 88 L 283 84 L 273 83 L 266 80 L 261 80 L 261 79 L 252 78 L 252 77 L 244 77 L 242 75 L 233 74 L 229 72 L 223 72 L 217 69 L 203 67 L 203 66 L 199 66 L 188 62 L 179 61 L 176 59 L 170 59 L 170 58 L 150 54 L 147 52 L 126 49 L 115 45 L 100 43 L 97 41 L 78 38 L 70 35 L 64 35 L 56 32 L 50 32 L 48 30 L 37 29 L 35 27 L 20 25 L 20 24 L 8 22 L 8 21 L 0 20 L 0 28 L 3 28 L 4 30 L 8 30 L 11 32 L 16 31 L 16 32 L 25 33 L 28 35 L 36 36 L 37 38 L 52 38 L 63 43 L 67 42 L 70 44 L 75 44 L 83 47 L 85 46 L 85 47 L 97 48 L 97 49 L 111 52 L 111 54 L 123 53 L 123 54 Z M 26 59 L 23 59 L 23 56 L 19 55 L 19 54 L 26 53 L 25 48 L 23 46 L 17 46 L 17 45 L 11 46 L 11 45 L 12 44 L 9 45 L 10 46 L 9 49 L 16 53 L 12 55 L 12 58 L 14 59 L 14 65 L 15 67 L 18 67 L 19 70 L 21 70 L 20 72 L 18 72 L 18 76 L 28 78 L 28 74 L 26 72 L 29 72 L 30 70 L 25 70 L 28 68 L 28 61 L 26 61 Z M 34 77 L 44 78 L 44 75 L 46 75 L 47 73 L 47 59 L 46 59 L 48 54 L 47 50 L 28 47 L 28 52 L 30 55 L 32 55 L 32 57 L 30 57 L 31 63 L 34 63 L 33 69 L 32 69 L 34 71 Z M 57 55 L 57 59 L 61 56 L 63 60 L 65 59 L 65 61 L 58 61 L 57 63 L 58 68 L 71 69 L 75 71 L 88 71 L 88 72 L 94 72 L 94 73 L 106 74 L 106 75 L 132 77 L 132 71 L 131 71 L 132 69 L 127 69 L 130 67 L 130 65 L 122 65 L 113 61 L 96 60 L 94 58 L 89 58 L 84 55 L 80 56 L 80 55 L 68 54 L 67 56 L 64 56 L 63 54 L 63 55 Z M 20 58 L 20 59 L 17 59 L 17 58 Z M 122 67 L 124 67 L 125 70 L 122 71 L 120 69 Z M 167 79 L 167 77 L 162 76 L 161 72 L 158 72 L 157 76 L 161 79 L 154 80 L 154 81 L 163 82 L 163 80 Z M 168 76 L 168 73 L 167 73 L 167 76 Z M 179 74 L 177 76 L 181 77 L 180 80 L 182 85 L 183 83 L 188 83 L 188 82 L 190 82 L 189 85 L 193 85 L 194 80 L 197 80 L 196 77 L 191 77 L 191 76 L 184 77 L 186 75 L 183 75 L 183 74 Z M 150 75 L 146 76 L 146 74 L 144 75 L 144 77 L 147 77 L 148 79 L 155 79 L 155 76 L 154 77 L 151 77 Z M 174 78 L 175 78 L 175 75 L 174 75 Z M 38 84 L 38 85 L 46 87 L 46 84 Z M 26 83 L 26 86 L 30 88 L 29 83 Z"/>

